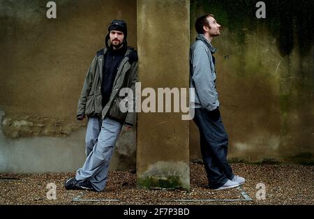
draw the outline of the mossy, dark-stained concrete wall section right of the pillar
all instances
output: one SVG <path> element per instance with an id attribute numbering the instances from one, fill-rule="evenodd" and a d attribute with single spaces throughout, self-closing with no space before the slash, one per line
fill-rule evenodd
<path id="1" fill-rule="evenodd" d="M 223 26 L 216 52 L 221 113 L 230 160 L 314 163 L 313 1 L 191 1 L 190 39 L 197 17 L 214 13 Z M 190 158 L 200 159 L 190 123 Z"/>

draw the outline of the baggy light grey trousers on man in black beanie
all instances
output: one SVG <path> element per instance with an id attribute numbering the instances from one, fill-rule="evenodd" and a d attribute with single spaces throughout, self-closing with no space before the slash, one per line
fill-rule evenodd
<path id="1" fill-rule="evenodd" d="M 97 191 L 105 189 L 110 159 L 121 128 L 121 123 L 107 117 L 100 121 L 98 118 L 89 119 L 86 136 L 87 159 L 83 167 L 77 169 L 77 181 L 89 181 Z"/>

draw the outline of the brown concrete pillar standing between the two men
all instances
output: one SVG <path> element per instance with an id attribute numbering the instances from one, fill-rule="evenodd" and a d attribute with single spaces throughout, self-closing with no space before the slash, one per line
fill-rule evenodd
<path id="1" fill-rule="evenodd" d="M 158 88 L 189 87 L 189 11 L 188 0 L 137 0 L 139 79 L 156 100 Z M 189 122 L 173 107 L 157 111 L 137 114 L 137 188 L 188 190 Z"/>

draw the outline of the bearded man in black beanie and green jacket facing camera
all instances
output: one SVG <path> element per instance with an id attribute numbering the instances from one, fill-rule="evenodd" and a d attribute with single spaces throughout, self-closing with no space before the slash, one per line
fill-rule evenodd
<path id="1" fill-rule="evenodd" d="M 89 120 L 85 141 L 87 159 L 75 178 L 64 183 L 68 190 L 104 190 L 121 128 L 135 125 L 135 110 L 121 112 L 119 107 L 125 98 L 119 96 L 119 91 L 130 88 L 135 93 L 137 82 L 137 52 L 128 47 L 127 34 L 126 22 L 113 20 L 105 48 L 97 52 L 87 71 L 77 106 L 77 119 L 82 121 L 87 116 Z M 130 100 L 135 106 L 135 98 L 128 96 Z"/>

